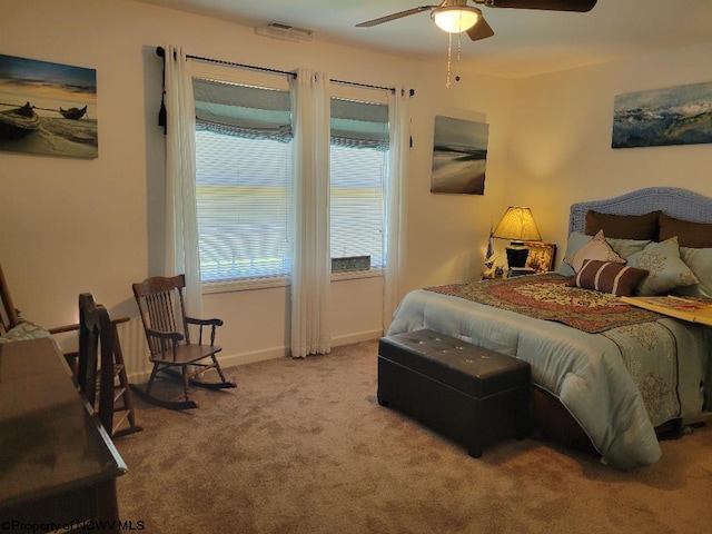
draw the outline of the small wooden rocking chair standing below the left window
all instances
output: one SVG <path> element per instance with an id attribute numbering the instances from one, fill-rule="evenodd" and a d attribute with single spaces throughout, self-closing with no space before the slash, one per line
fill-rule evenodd
<path id="1" fill-rule="evenodd" d="M 132 287 L 146 332 L 150 360 L 154 363 L 146 389 L 135 388 L 138 395 L 158 406 L 186 409 L 198 407 L 197 403 L 189 398 L 190 385 L 211 389 L 237 387 L 234 382 L 228 382 L 225 378 L 216 358 L 216 354 L 222 348 L 215 345 L 215 334 L 216 328 L 222 326 L 222 320 L 186 317 L 185 275 L 155 276 L 142 283 L 134 284 Z M 189 325 L 199 327 L 197 344 L 190 342 Z M 209 344 L 204 344 L 202 339 L 206 327 L 210 328 Z M 220 382 L 207 383 L 196 379 L 198 375 L 209 369 L 215 369 L 218 373 Z M 184 400 L 162 400 L 151 396 L 154 378 L 161 372 L 182 380 Z"/>

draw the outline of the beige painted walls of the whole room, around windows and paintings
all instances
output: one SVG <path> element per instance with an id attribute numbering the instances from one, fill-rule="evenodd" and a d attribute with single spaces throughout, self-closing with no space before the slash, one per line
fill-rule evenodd
<path id="1" fill-rule="evenodd" d="M 463 72 L 446 89 L 445 53 L 423 63 L 318 40 L 271 40 L 130 0 L 0 0 L 0 53 L 89 67 L 98 77 L 98 159 L 0 152 L 0 261 L 24 317 L 75 322 L 81 291 L 112 315 L 135 316 L 131 283 L 159 273 L 165 152 L 155 47 L 167 42 L 196 56 L 416 90 L 402 295 L 476 278 L 490 222 L 510 204 L 532 206 L 544 238 L 563 245 L 571 201 L 668 184 L 712 195 L 709 146 L 609 148 L 614 95 L 712 79 L 709 46 L 523 80 Z M 485 196 L 429 192 L 436 115 L 490 123 Z M 380 279 L 333 289 L 334 343 L 378 336 Z M 285 354 L 285 288 L 210 294 L 204 308 L 226 322 L 228 362 Z M 132 374 L 146 368 L 140 335 L 136 320 L 122 327 Z"/>

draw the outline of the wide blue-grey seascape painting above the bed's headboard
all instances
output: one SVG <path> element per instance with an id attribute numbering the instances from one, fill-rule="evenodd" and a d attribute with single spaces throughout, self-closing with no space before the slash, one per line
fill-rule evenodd
<path id="1" fill-rule="evenodd" d="M 712 142 L 712 82 L 615 97 L 613 148 Z"/>

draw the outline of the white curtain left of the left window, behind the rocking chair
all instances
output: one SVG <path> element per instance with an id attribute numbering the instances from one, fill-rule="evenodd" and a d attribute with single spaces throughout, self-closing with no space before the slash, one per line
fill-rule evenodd
<path id="1" fill-rule="evenodd" d="M 166 276 L 185 273 L 187 313 L 202 316 L 196 204 L 195 101 L 188 59 L 167 44 Z"/>

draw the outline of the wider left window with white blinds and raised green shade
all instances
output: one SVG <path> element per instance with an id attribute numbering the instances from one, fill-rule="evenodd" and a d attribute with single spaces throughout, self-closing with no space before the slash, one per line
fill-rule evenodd
<path id="1" fill-rule="evenodd" d="M 194 79 L 202 281 L 290 271 L 289 92 Z"/>

